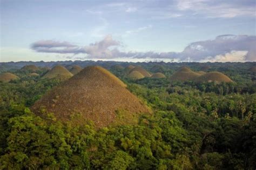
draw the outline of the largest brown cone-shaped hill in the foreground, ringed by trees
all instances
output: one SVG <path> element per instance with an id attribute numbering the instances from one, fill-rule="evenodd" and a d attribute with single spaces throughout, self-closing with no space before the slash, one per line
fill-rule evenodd
<path id="1" fill-rule="evenodd" d="M 58 120 L 71 120 L 76 124 L 93 121 L 98 128 L 134 124 L 139 114 L 150 111 L 125 86 L 103 67 L 85 67 L 69 80 L 53 87 L 31 110 L 44 117 L 39 111 L 43 107 L 54 113 Z M 80 115 L 79 119 L 72 120 L 74 114 Z"/>

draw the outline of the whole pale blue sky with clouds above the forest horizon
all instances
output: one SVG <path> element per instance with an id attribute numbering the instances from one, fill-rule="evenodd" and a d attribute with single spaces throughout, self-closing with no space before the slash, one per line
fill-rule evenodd
<path id="1" fill-rule="evenodd" d="M 256 61 L 255 0 L 0 2 L 0 62 Z"/>

